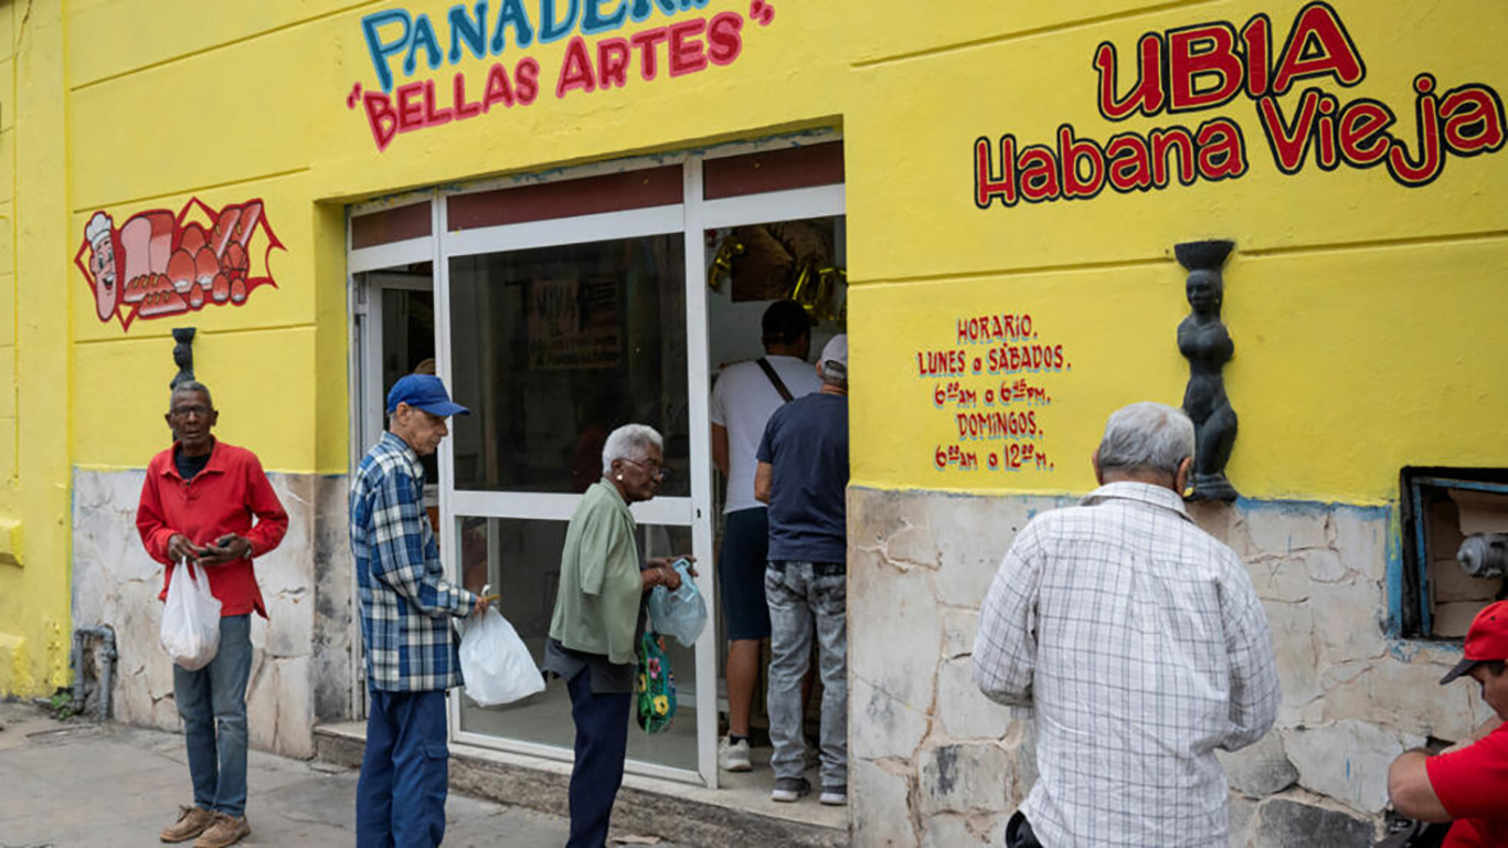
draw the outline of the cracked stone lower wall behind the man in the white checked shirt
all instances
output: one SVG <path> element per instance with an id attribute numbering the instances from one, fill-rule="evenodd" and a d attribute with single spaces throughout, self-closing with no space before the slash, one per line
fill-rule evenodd
<path id="1" fill-rule="evenodd" d="M 973 685 L 979 607 L 1016 531 L 1069 502 L 849 489 L 855 846 L 1003 843 L 1036 777 L 1031 714 Z M 1193 515 L 1246 560 L 1283 685 L 1273 732 L 1221 754 L 1231 845 L 1371 845 L 1392 759 L 1490 714 L 1475 687 L 1436 685 L 1458 649 L 1386 635 L 1390 512 L 1243 501 Z"/>

